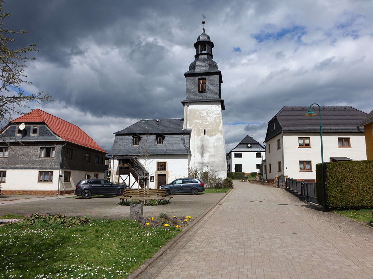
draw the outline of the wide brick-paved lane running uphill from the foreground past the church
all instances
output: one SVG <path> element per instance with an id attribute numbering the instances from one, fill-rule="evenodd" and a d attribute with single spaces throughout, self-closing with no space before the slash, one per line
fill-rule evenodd
<path id="1" fill-rule="evenodd" d="M 373 278 L 372 228 L 284 189 L 235 186 L 137 278 Z"/>

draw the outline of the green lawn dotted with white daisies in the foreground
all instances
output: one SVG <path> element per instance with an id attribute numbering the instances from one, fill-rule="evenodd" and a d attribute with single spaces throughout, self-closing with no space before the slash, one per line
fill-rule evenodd
<path id="1" fill-rule="evenodd" d="M 126 278 L 180 231 L 128 219 L 70 228 L 1 225 L 0 278 Z"/>

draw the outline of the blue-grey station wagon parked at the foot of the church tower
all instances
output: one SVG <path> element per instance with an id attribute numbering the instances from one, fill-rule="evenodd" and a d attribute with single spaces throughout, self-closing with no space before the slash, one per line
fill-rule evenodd
<path id="1" fill-rule="evenodd" d="M 175 193 L 192 193 L 197 195 L 198 192 L 205 190 L 203 182 L 197 178 L 183 177 L 173 180 L 173 182 L 160 186 L 159 189 L 164 189 L 167 195 Z"/>

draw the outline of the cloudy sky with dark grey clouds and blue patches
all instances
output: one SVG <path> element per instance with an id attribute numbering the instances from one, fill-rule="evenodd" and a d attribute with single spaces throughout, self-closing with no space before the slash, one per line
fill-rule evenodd
<path id="1" fill-rule="evenodd" d="M 283 106 L 373 109 L 373 1 L 9 0 L 14 48 L 37 44 L 31 104 L 78 125 L 110 151 L 113 133 L 140 119 L 182 118 L 193 44 L 205 29 L 222 71 L 227 152 L 264 141 Z M 300 116 L 301 117 L 301 116 Z"/>

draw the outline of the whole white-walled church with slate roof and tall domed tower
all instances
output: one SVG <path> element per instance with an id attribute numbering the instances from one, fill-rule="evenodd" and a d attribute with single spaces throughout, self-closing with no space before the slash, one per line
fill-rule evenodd
<path id="1" fill-rule="evenodd" d="M 109 153 L 112 181 L 130 187 L 138 187 L 140 181 L 142 187 L 139 177 L 147 176 L 148 187 L 158 188 L 188 177 L 188 170 L 212 170 L 226 177 L 223 80 L 213 60 L 213 47 L 203 28 L 194 44 L 195 60 L 184 73 L 184 118 L 142 119 L 115 133 Z"/>

